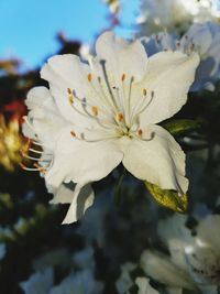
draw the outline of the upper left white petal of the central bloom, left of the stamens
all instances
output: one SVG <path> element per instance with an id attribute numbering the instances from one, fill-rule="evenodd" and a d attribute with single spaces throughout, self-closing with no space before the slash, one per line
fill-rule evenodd
<path id="1" fill-rule="evenodd" d="M 92 121 L 89 117 L 86 118 L 73 109 L 67 89 L 75 91 L 80 99 L 88 99 L 94 96 L 91 85 L 88 81 L 89 73 L 89 66 L 74 54 L 53 56 L 41 70 L 42 78 L 50 83 L 51 92 L 63 117 L 80 126 L 91 124 L 95 120 Z M 78 104 L 76 99 L 75 104 Z"/>

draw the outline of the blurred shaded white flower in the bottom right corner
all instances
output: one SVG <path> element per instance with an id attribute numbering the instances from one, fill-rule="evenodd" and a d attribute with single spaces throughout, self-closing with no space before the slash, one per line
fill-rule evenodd
<path id="1" fill-rule="evenodd" d="M 169 288 L 217 294 L 220 285 L 220 216 L 209 215 L 199 221 L 196 236 L 185 227 L 186 217 L 174 216 L 161 221 L 158 233 L 170 257 L 146 250 L 141 265 L 151 277 Z"/>

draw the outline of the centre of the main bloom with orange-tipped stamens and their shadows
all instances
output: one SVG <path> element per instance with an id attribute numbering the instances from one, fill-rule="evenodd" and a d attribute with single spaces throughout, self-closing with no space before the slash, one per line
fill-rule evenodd
<path id="1" fill-rule="evenodd" d="M 154 91 L 146 88 L 138 90 L 134 88 L 134 77 L 125 73 L 117 80 L 107 73 L 105 61 L 100 61 L 99 65 L 101 75 L 96 75 L 96 72 L 87 75 L 87 97 L 80 98 L 76 90 L 67 89 L 70 106 L 82 117 L 95 120 L 98 128 L 105 129 L 105 137 L 100 140 L 123 135 L 143 138 L 139 117 L 153 100 Z M 75 139 L 94 141 L 86 133 L 76 134 L 75 130 L 72 135 Z"/>

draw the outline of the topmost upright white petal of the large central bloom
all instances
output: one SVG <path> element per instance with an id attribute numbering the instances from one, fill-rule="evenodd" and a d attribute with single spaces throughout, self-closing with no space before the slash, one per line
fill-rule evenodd
<path id="1" fill-rule="evenodd" d="M 112 32 L 106 32 L 97 40 L 96 52 L 118 80 L 123 74 L 140 80 L 146 73 L 147 56 L 140 40 L 129 43 L 117 39 Z"/>

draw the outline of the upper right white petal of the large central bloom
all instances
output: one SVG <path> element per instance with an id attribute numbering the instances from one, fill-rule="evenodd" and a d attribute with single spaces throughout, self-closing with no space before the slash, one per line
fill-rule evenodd
<path id="1" fill-rule="evenodd" d="M 161 52 L 150 57 L 147 74 L 139 88 L 140 92 L 153 91 L 154 98 L 140 116 L 141 126 L 170 118 L 186 104 L 198 63 L 197 54 L 188 57 L 180 52 Z"/>

